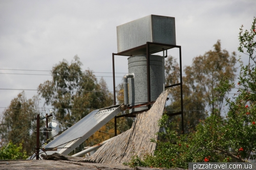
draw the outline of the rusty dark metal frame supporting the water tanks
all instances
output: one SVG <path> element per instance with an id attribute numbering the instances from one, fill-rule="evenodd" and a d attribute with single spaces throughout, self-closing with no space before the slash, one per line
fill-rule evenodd
<path id="1" fill-rule="evenodd" d="M 174 86 L 180 86 L 180 91 L 181 91 L 181 112 L 177 112 L 177 113 L 172 113 L 172 114 L 168 114 L 169 116 L 175 116 L 175 115 L 181 115 L 181 124 L 182 124 L 182 133 L 184 132 L 184 116 L 183 116 L 183 91 L 182 91 L 182 62 L 181 62 L 181 46 L 179 45 L 170 45 L 170 44 L 163 44 L 163 43 L 156 43 L 156 42 L 146 42 L 146 44 L 137 46 L 135 48 L 131 48 L 130 50 L 126 50 L 120 53 L 112 53 L 112 64 L 113 64 L 113 91 L 114 91 L 114 105 L 116 105 L 116 84 L 115 84 L 115 56 L 127 56 L 127 55 L 123 55 L 124 53 L 127 52 L 131 52 L 131 51 L 135 51 L 138 50 L 140 48 L 146 47 L 146 53 L 144 55 L 146 55 L 146 64 L 147 64 L 147 102 L 151 103 L 151 86 L 150 86 L 150 55 L 160 52 L 150 52 L 150 45 L 159 45 L 159 46 L 167 46 L 169 48 L 164 49 L 162 48 L 162 51 L 164 50 L 169 50 L 170 48 L 179 48 L 179 58 L 180 58 L 180 83 L 178 84 L 173 84 L 173 85 L 169 85 L 169 86 L 165 86 L 165 88 L 170 88 L 170 87 L 174 87 Z M 133 56 L 133 55 L 131 55 Z M 127 57 L 131 57 L 131 56 L 127 56 Z M 143 110 L 143 111 L 138 111 L 138 112 L 134 112 L 134 113 L 130 113 L 130 114 L 124 114 L 124 115 L 120 115 L 120 116 L 115 116 L 115 136 L 117 135 L 117 118 L 119 117 L 135 117 L 136 114 L 142 113 L 144 111 L 147 111 L 151 108 L 151 105 L 148 104 L 147 105 L 147 109 Z"/>

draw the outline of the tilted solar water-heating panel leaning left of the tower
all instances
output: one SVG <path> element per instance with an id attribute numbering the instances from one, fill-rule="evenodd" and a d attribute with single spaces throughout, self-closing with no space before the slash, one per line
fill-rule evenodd
<path id="1" fill-rule="evenodd" d="M 73 151 L 79 144 L 88 139 L 93 135 L 98 129 L 103 125 L 108 123 L 113 117 L 121 112 L 121 105 L 115 105 L 107 108 L 102 108 L 94 110 L 87 116 L 83 117 L 79 122 L 74 124 L 68 130 L 57 136 L 47 145 L 47 148 L 62 148 L 57 149 L 57 151 L 46 151 L 47 155 L 53 153 L 59 153 L 63 155 L 68 155 Z M 44 153 L 40 150 L 39 154 Z M 33 154 L 28 159 L 35 159 L 35 154 Z"/>

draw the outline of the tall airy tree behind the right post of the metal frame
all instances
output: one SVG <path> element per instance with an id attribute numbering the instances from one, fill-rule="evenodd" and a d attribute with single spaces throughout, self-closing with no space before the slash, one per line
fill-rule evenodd
<path id="1" fill-rule="evenodd" d="M 214 103 L 211 101 L 220 95 L 220 92 L 214 89 L 220 86 L 220 80 L 224 76 L 228 77 L 229 82 L 234 80 L 234 73 L 237 70 L 234 67 L 236 64 L 235 56 L 235 52 L 229 55 L 226 50 L 222 50 L 221 42 L 218 40 L 214 44 L 214 50 L 206 52 L 203 56 L 195 57 L 192 65 L 184 68 L 185 76 L 182 77 L 182 88 L 185 132 L 188 132 L 190 127 L 195 128 L 199 119 L 205 118 L 204 110 L 207 109 L 206 107 L 209 107 L 209 110 L 213 112 L 215 108 L 220 110 L 223 106 L 224 98 L 218 98 Z M 167 85 L 179 83 L 179 65 L 172 56 L 168 58 L 165 70 Z M 170 99 L 172 103 L 166 109 L 180 110 L 179 86 L 173 87 L 172 98 Z"/>

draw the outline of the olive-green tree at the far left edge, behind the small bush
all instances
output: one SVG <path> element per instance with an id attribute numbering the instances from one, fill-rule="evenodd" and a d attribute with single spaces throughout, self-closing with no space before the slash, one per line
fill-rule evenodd
<path id="1" fill-rule="evenodd" d="M 12 140 L 13 144 L 20 143 L 23 149 L 32 154 L 36 148 L 36 115 L 38 109 L 39 98 L 33 96 L 27 100 L 25 92 L 19 93 L 17 98 L 11 101 L 10 106 L 4 110 L 2 123 L 0 126 L 1 145 L 4 147 Z M 44 124 L 41 120 L 40 124 Z M 44 136 L 40 136 L 44 141 Z"/>

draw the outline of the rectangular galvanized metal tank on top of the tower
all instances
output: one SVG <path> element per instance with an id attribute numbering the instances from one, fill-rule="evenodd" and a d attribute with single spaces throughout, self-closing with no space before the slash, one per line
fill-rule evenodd
<path id="1" fill-rule="evenodd" d="M 176 45 L 175 18 L 148 15 L 117 26 L 117 52 L 157 42 Z"/>

